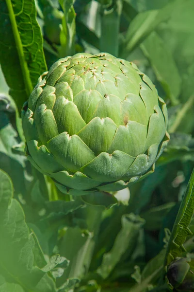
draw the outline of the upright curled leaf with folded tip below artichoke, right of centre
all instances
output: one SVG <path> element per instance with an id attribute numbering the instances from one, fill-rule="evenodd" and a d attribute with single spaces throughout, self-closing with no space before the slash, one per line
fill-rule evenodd
<path id="1" fill-rule="evenodd" d="M 97 269 L 98 274 L 103 278 L 107 278 L 124 254 L 127 252 L 129 255 L 133 251 L 137 243 L 139 230 L 144 223 L 144 219 L 132 213 L 123 215 L 122 228 L 114 241 L 111 251 L 104 254 L 102 264 Z"/>

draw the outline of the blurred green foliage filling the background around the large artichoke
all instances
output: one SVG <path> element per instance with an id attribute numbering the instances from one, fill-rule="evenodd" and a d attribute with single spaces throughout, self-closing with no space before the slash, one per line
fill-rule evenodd
<path id="1" fill-rule="evenodd" d="M 0 292 L 168 291 L 163 248 L 194 167 L 194 0 L 1 0 L 0 27 Z M 25 156 L 24 101 L 79 52 L 134 62 L 168 107 L 155 172 L 118 201 L 69 198 Z"/>

